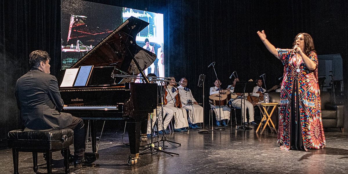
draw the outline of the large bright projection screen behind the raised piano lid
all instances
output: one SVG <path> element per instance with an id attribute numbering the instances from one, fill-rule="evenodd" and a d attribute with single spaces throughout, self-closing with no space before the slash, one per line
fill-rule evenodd
<path id="1" fill-rule="evenodd" d="M 130 16 L 150 23 L 136 37 L 140 47 L 157 55 L 145 74 L 164 77 L 163 14 L 80 0 L 61 1 L 62 69 L 70 68 Z"/>

